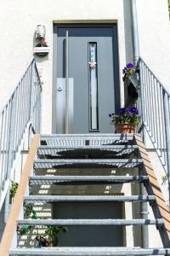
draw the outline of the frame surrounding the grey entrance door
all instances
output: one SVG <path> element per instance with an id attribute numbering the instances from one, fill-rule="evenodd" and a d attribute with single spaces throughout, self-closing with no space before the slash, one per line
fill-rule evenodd
<path id="1" fill-rule="evenodd" d="M 117 34 L 117 24 L 116 23 L 54 23 L 53 34 L 54 34 L 54 44 L 53 44 L 53 86 L 52 86 L 52 133 L 56 133 L 56 78 L 57 78 L 57 30 L 59 27 L 112 27 L 113 29 L 113 73 L 114 73 L 114 84 L 119 84 L 115 86 L 115 108 L 120 107 L 121 102 L 121 88 L 120 88 L 120 77 L 119 77 L 119 51 L 118 51 L 118 34 Z"/>

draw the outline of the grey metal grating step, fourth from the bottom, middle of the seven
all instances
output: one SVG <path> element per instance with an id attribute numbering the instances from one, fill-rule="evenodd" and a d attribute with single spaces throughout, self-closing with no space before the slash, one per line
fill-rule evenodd
<path id="1" fill-rule="evenodd" d="M 82 183 L 142 183 L 148 181 L 147 176 L 31 176 L 30 185 L 48 184 L 82 184 Z"/>

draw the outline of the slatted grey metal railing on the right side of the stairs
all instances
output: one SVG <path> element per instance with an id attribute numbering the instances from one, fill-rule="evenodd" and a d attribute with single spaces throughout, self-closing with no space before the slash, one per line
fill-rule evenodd
<path id="1" fill-rule="evenodd" d="M 170 199 L 170 93 L 142 58 L 139 58 L 138 67 L 140 125 L 144 125 L 167 173 Z"/>

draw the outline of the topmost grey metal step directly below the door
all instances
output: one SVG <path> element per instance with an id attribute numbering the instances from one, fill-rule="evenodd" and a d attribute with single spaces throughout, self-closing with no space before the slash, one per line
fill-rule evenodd
<path id="1" fill-rule="evenodd" d="M 133 144 L 133 134 L 52 134 L 42 135 L 41 145 L 49 146 L 103 146 L 113 144 Z"/>

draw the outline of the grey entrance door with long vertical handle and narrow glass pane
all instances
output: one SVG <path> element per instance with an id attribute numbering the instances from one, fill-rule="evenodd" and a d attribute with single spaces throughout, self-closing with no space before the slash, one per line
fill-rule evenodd
<path id="1" fill-rule="evenodd" d="M 113 132 L 109 113 L 119 104 L 116 42 L 116 26 L 54 26 L 55 132 Z"/>

